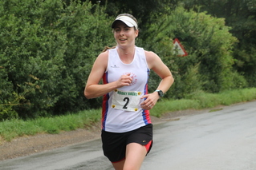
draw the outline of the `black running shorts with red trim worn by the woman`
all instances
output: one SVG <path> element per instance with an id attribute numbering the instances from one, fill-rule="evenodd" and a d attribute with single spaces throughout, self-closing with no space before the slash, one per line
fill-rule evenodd
<path id="1" fill-rule="evenodd" d="M 108 157 L 112 163 L 124 160 L 126 145 L 130 143 L 138 143 L 142 145 L 148 144 L 152 140 L 152 124 L 145 125 L 130 132 L 101 132 L 102 147 L 104 156 Z M 150 152 L 150 148 L 148 152 Z"/>

